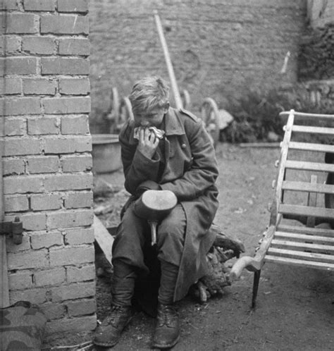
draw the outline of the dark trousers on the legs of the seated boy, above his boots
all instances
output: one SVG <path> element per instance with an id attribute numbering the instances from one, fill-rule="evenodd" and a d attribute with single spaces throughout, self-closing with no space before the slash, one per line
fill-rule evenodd
<path id="1" fill-rule="evenodd" d="M 186 218 L 183 207 L 178 204 L 171 214 L 159 223 L 156 254 L 161 263 L 159 302 L 173 302 L 178 267 L 185 242 Z M 144 263 L 145 246 L 150 245 L 151 232 L 147 221 L 133 211 L 133 204 L 123 216 L 113 242 L 113 281 L 111 293 L 113 304 L 129 306 L 135 287 L 135 279 L 148 273 Z"/>

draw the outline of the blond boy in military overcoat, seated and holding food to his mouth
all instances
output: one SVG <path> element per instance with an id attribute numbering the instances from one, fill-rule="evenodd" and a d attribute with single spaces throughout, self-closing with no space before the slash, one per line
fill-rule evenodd
<path id="1" fill-rule="evenodd" d="M 214 146 L 201 120 L 169 105 L 169 87 L 159 77 L 137 82 L 130 94 L 134 121 L 120 131 L 125 189 L 132 195 L 113 242 L 112 311 L 97 328 L 94 343 L 112 347 L 131 319 L 135 280 L 148 272 L 144 247 L 147 221 L 135 213 L 141 191 L 171 190 L 178 204 L 159 223 L 156 252 L 161 265 L 153 347 L 171 348 L 180 337 L 175 301 L 206 274 L 209 234 L 218 208 Z"/>

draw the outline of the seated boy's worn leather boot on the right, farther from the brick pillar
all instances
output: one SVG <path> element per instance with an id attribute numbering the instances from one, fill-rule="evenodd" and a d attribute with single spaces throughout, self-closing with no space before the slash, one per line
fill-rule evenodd
<path id="1" fill-rule="evenodd" d="M 153 337 L 152 347 L 157 349 L 169 349 L 180 338 L 180 323 L 178 312 L 172 304 L 158 304 L 158 316 L 156 330 Z"/>

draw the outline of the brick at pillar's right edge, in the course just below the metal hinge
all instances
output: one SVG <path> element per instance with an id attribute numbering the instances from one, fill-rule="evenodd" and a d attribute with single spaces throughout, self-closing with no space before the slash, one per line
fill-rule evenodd
<path id="1" fill-rule="evenodd" d="M 73 264 L 84 264 L 94 262 L 94 247 L 51 247 L 49 250 L 51 266 L 67 266 Z M 84 296 L 82 296 L 84 297 Z M 75 297 L 75 298 L 79 298 Z"/>

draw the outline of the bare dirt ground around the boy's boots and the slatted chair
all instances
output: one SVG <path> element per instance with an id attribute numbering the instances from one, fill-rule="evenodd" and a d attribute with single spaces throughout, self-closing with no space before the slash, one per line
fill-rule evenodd
<path id="1" fill-rule="evenodd" d="M 220 207 L 215 223 L 242 240 L 245 254 L 253 254 L 268 224 L 279 149 L 218 144 L 216 154 Z M 122 172 L 108 181 L 121 188 Z M 334 350 L 333 272 L 265 264 L 254 310 L 252 280 L 244 271 L 223 296 L 206 304 L 190 297 L 179 302 L 181 338 L 173 350 Z M 98 278 L 100 320 L 109 312 L 109 291 L 109 277 Z M 154 324 L 138 312 L 113 350 L 150 350 Z"/>

